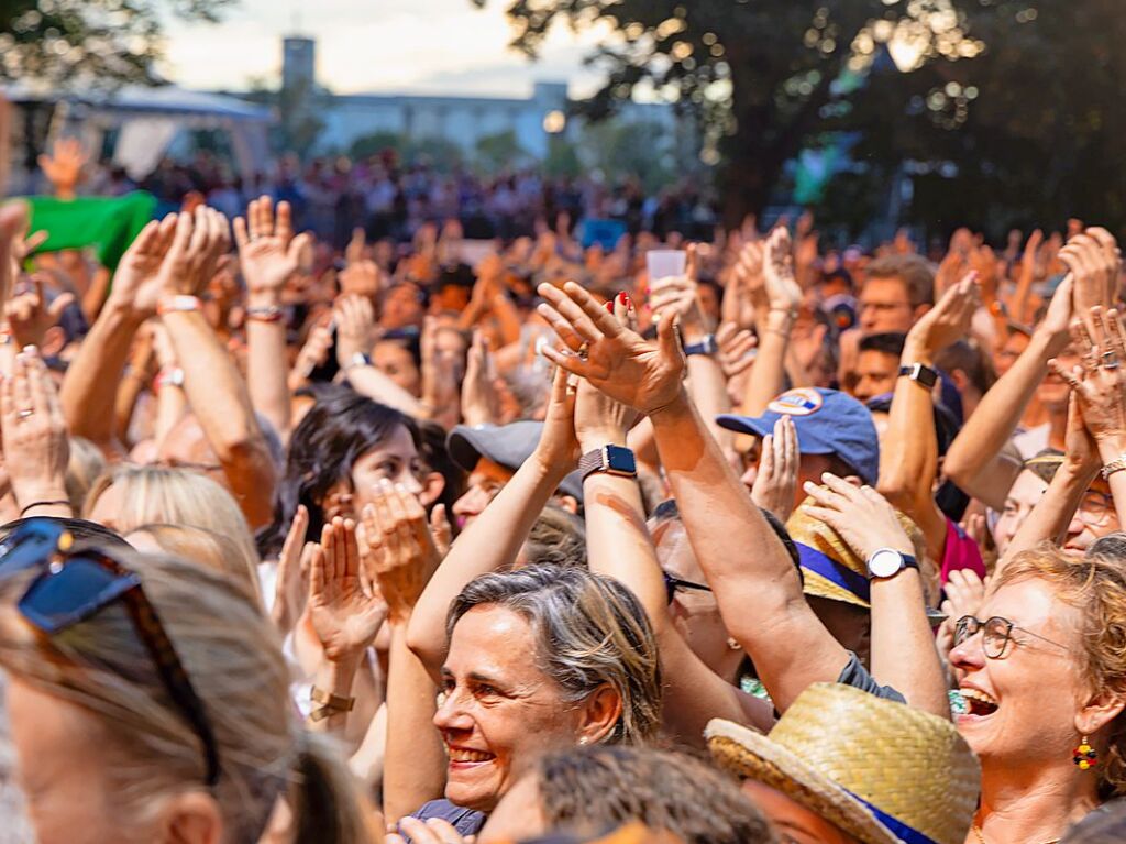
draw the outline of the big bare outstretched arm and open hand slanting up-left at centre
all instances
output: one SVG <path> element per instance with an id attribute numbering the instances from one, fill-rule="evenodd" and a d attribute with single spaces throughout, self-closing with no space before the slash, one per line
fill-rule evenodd
<path id="1" fill-rule="evenodd" d="M 835 682 L 848 654 L 813 614 L 785 548 L 685 394 L 671 316 L 661 320 L 653 346 L 574 283 L 562 291 L 540 285 L 539 294 L 549 303 L 540 313 L 574 353 L 544 354 L 652 419 L 661 463 L 724 624 L 754 660 L 775 705 L 784 711 L 811 683 Z M 586 359 L 578 355 L 583 345 Z M 753 615 L 748 606 L 756 607 Z"/>

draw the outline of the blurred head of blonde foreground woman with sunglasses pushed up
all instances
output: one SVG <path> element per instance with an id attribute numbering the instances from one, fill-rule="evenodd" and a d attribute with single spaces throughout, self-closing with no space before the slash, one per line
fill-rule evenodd
<path id="1" fill-rule="evenodd" d="M 0 542 L 0 668 L 41 844 L 372 841 L 350 774 L 306 735 L 269 622 L 227 578 L 106 531 Z"/>

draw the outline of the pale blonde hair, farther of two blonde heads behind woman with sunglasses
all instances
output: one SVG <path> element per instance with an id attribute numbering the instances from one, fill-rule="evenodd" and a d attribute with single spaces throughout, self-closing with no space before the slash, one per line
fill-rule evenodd
<path id="1" fill-rule="evenodd" d="M 125 535 L 142 525 L 202 527 L 226 539 L 240 557 L 239 567 L 253 570 L 258 550 L 234 497 L 223 487 L 187 469 L 120 464 L 93 482 L 82 515 L 87 518 L 110 487 L 122 495 L 114 528 Z"/>

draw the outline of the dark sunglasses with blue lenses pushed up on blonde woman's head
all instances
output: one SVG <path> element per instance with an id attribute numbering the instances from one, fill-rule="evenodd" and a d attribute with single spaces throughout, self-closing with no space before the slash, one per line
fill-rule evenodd
<path id="1" fill-rule="evenodd" d="M 73 547 L 73 534 L 48 518 L 27 519 L 0 543 L 0 578 L 42 569 L 17 603 L 20 614 L 38 630 L 54 636 L 120 601 L 166 691 L 199 737 L 207 771 L 205 782 L 214 785 L 220 774 L 215 734 L 171 639 L 145 597 L 141 578 L 107 551 L 74 551 Z"/>

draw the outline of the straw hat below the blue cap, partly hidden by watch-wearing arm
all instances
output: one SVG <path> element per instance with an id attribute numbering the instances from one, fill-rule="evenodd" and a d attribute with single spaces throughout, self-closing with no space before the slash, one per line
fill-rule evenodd
<path id="1" fill-rule="evenodd" d="M 808 508 L 813 499 L 806 498 L 786 522 L 786 530 L 797 545 L 806 595 L 830 601 L 840 601 L 864 610 L 868 603 L 868 565 L 841 538 L 837 531 L 820 518 L 811 515 Z M 917 548 L 923 543 L 922 532 L 910 517 L 895 512 L 900 524 Z M 924 565 L 920 560 L 920 566 Z M 922 569 L 920 569 L 922 571 Z M 932 621 L 942 621 L 945 615 L 931 610 L 927 612 Z"/>

